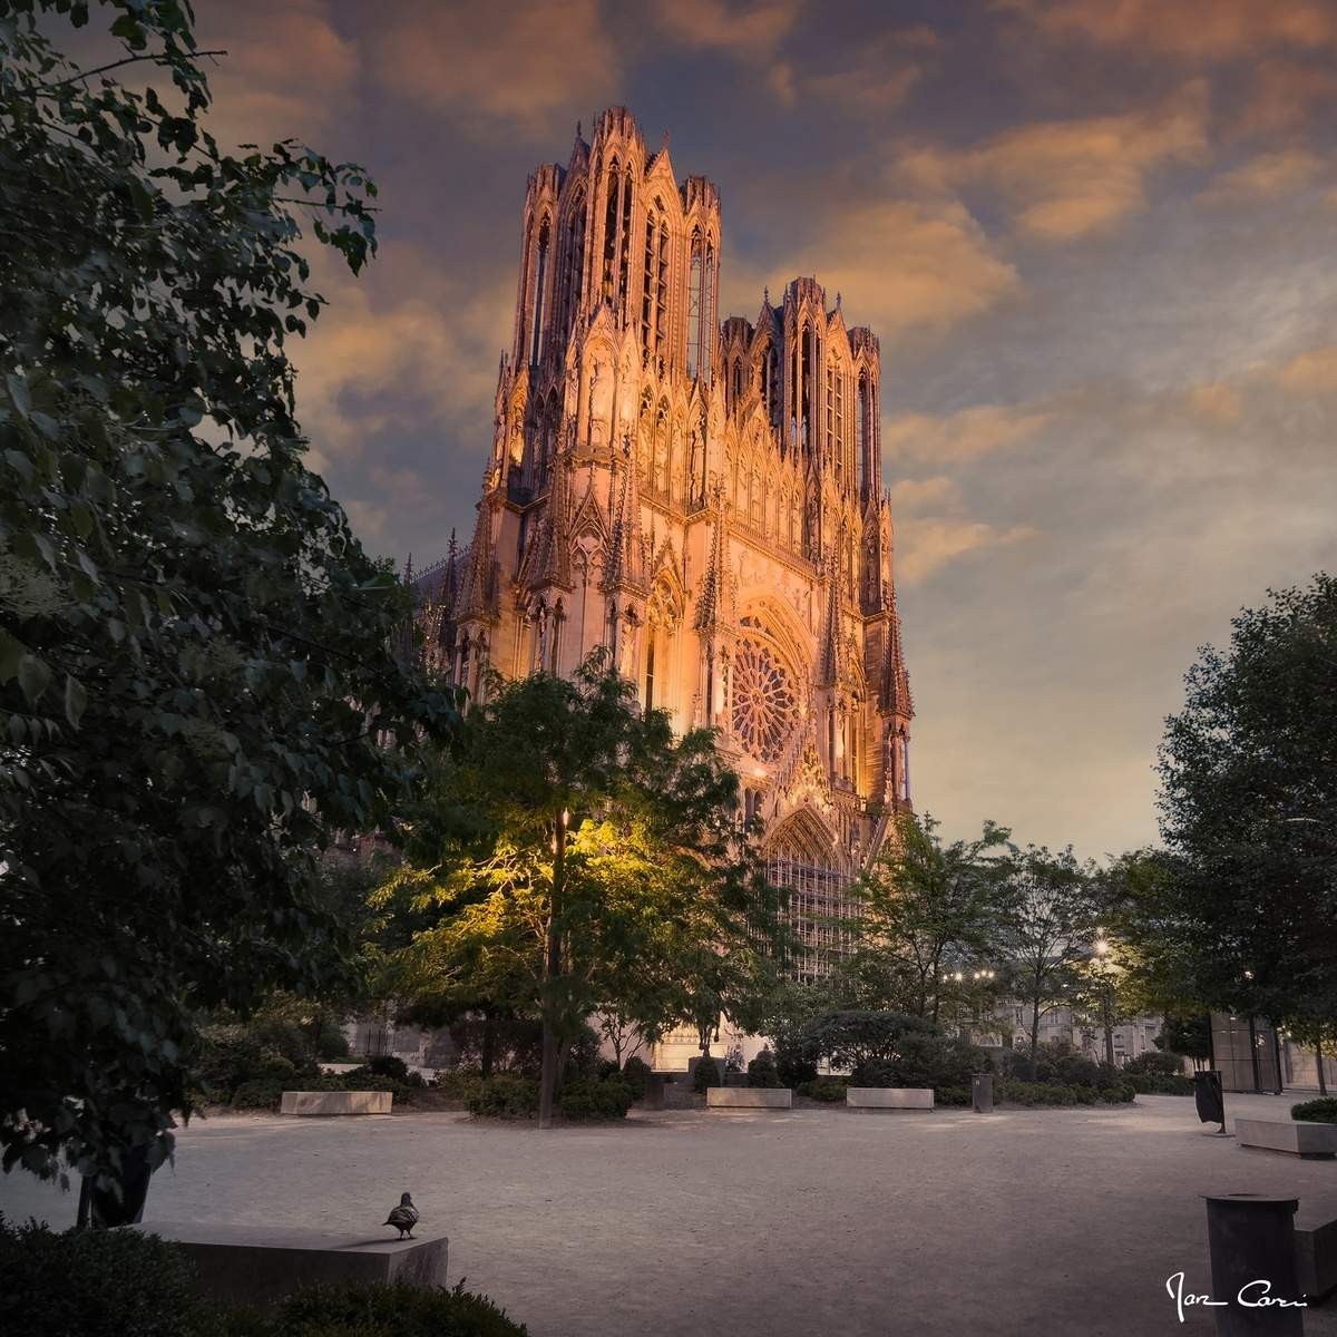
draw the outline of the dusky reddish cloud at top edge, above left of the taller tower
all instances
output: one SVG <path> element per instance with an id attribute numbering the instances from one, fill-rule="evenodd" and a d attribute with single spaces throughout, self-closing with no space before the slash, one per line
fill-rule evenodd
<path id="1" fill-rule="evenodd" d="M 455 126 L 504 122 L 535 136 L 606 100 L 622 74 L 598 0 L 396 4 L 369 44 L 380 83 Z"/>

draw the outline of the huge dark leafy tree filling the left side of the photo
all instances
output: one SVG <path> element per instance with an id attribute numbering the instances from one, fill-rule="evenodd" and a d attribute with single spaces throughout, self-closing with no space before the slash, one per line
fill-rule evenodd
<path id="1" fill-rule="evenodd" d="M 115 5 L 100 76 L 41 9 L 88 17 L 0 21 L 0 1143 L 119 1191 L 189 1112 L 202 1011 L 345 973 L 318 849 L 455 710 L 293 417 L 303 219 L 356 271 L 374 189 L 222 152 L 180 0 Z"/>

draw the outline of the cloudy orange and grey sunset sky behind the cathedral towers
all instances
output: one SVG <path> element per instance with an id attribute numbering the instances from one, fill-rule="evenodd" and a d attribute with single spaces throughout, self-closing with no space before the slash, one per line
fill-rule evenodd
<path id="1" fill-rule="evenodd" d="M 916 806 L 1157 838 L 1203 643 L 1337 568 L 1337 0 L 197 0 L 223 140 L 361 162 L 313 463 L 366 545 L 472 531 L 525 179 L 627 106 L 723 211 L 722 313 L 797 274 L 881 338 Z"/>

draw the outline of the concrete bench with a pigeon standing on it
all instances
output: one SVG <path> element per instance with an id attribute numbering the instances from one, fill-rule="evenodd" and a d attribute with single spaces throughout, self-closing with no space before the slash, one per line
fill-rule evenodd
<path id="1" fill-rule="evenodd" d="M 368 1217 L 365 1234 L 322 1235 L 271 1226 L 217 1226 L 203 1222 L 147 1221 L 127 1230 L 162 1235 L 182 1246 L 195 1267 L 195 1284 L 211 1298 L 266 1308 L 317 1282 L 342 1285 L 401 1281 L 444 1286 L 449 1241 L 432 1233 L 396 1239 Z"/>

